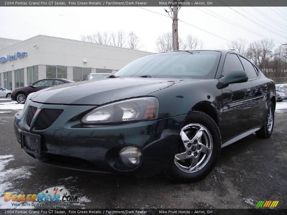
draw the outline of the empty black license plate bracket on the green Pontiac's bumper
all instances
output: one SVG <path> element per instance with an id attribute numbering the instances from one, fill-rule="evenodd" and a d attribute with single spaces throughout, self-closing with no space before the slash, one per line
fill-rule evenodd
<path id="1" fill-rule="evenodd" d="M 41 136 L 29 132 L 21 132 L 21 148 L 35 156 L 41 155 Z"/>

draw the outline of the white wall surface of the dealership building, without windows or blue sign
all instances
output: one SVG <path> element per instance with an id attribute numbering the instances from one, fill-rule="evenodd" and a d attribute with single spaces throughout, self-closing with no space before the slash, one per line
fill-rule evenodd
<path id="1" fill-rule="evenodd" d="M 1 49 L 0 57 L 13 55 L 18 51 L 27 52 L 27 55 L 0 63 L 0 73 L 39 65 L 39 80 L 46 78 L 46 65 L 67 67 L 67 78 L 73 79 L 73 67 L 91 68 L 91 72 L 96 72 L 96 68 L 114 71 L 150 54 L 139 50 L 39 35 Z M 28 83 L 27 69 L 24 81 Z M 12 82 L 14 89 L 14 72 Z"/>

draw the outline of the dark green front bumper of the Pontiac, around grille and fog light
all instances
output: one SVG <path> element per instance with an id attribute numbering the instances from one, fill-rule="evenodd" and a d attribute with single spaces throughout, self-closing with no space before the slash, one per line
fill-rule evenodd
<path id="1" fill-rule="evenodd" d="M 15 115 L 14 130 L 18 142 L 21 142 L 21 131 L 41 136 L 40 156 L 25 151 L 33 159 L 69 169 L 139 176 L 157 174 L 172 166 L 186 116 L 94 126 L 80 122 L 80 118 L 94 106 L 36 102 L 29 105 L 41 109 L 63 109 L 59 118 L 45 130 L 34 127 L 37 117 L 31 127 L 27 125 L 28 108 Z M 133 170 L 127 170 L 119 161 L 118 153 L 127 145 L 135 145 L 142 151 L 142 162 Z"/>

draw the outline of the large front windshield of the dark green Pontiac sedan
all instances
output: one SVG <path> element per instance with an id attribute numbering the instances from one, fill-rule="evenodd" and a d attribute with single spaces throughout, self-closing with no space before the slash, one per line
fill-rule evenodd
<path id="1" fill-rule="evenodd" d="M 115 76 L 214 79 L 220 56 L 217 51 L 157 53 L 133 61 Z"/>

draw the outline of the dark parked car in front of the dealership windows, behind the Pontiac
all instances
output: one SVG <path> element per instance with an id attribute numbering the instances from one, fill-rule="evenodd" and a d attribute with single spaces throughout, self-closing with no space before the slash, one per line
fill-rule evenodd
<path id="1" fill-rule="evenodd" d="M 52 87 L 55 85 L 62 85 L 62 84 L 71 83 L 71 82 L 74 82 L 74 81 L 71 81 L 68 79 L 60 79 L 60 78 L 59 79 L 58 78 L 42 79 L 26 87 L 20 87 L 20 88 L 13 90 L 11 94 L 11 99 L 18 102 L 19 104 L 24 104 L 27 96 L 30 93 L 34 93 L 38 90 L 42 90 L 47 87 Z"/>

